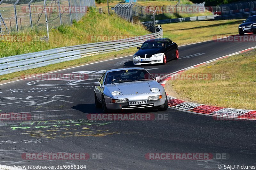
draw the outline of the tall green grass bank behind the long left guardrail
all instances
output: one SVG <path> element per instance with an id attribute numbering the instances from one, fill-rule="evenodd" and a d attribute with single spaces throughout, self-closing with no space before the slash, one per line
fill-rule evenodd
<path id="1" fill-rule="evenodd" d="M 35 38 L 46 35 L 46 32 L 40 32 L 36 29 L 27 29 L 18 33 L 12 32 L 10 36 L 13 39 L 11 41 L 6 38 L 0 39 L 0 58 L 63 46 L 114 40 L 118 38 L 117 36 L 125 38 L 148 33 L 150 32 L 146 31 L 140 24 L 132 25 L 115 14 L 100 15 L 95 8 L 90 8 L 89 12 L 80 21 L 74 21 L 72 26 L 62 25 L 50 29 L 49 43 Z"/>

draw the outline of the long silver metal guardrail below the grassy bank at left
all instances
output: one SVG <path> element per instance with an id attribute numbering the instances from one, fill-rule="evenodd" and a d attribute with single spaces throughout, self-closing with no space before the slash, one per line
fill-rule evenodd
<path id="1" fill-rule="evenodd" d="M 163 30 L 159 29 L 159 32 L 134 38 L 61 47 L 35 53 L 4 57 L 0 58 L 0 75 L 31 68 L 43 67 L 63 61 L 75 60 L 100 53 L 107 53 L 125 48 L 140 46 L 147 39 L 162 37 Z"/>

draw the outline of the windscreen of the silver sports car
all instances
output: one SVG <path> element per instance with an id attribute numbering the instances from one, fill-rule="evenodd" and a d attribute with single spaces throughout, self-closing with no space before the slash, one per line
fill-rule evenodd
<path id="1" fill-rule="evenodd" d="M 105 84 L 147 80 L 154 80 L 154 78 L 146 70 L 120 70 L 108 73 Z"/>

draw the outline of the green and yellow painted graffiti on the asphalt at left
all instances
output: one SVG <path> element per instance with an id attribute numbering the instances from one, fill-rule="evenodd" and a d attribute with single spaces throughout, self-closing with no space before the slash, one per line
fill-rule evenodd
<path id="1" fill-rule="evenodd" d="M 81 137 L 81 136 L 106 136 L 119 134 L 116 131 L 109 131 L 103 125 L 112 122 L 96 122 L 89 119 L 79 120 L 51 120 L 51 121 L 36 121 L 36 122 L 12 122 L 3 123 L 0 126 L 9 127 L 12 131 L 22 131 L 20 134 L 29 135 L 36 138 L 66 138 L 66 137 Z"/>

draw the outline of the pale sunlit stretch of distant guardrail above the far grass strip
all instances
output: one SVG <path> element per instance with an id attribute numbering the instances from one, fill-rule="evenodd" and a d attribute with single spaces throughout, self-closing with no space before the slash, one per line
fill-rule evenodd
<path id="1" fill-rule="evenodd" d="M 202 21 L 202 20 L 214 19 L 216 16 L 218 16 L 218 15 L 162 19 L 162 20 L 156 20 L 156 24 L 169 24 L 169 23 L 186 22 L 186 21 Z M 147 22 L 142 22 L 142 23 L 153 24 L 153 21 L 147 21 Z"/>

